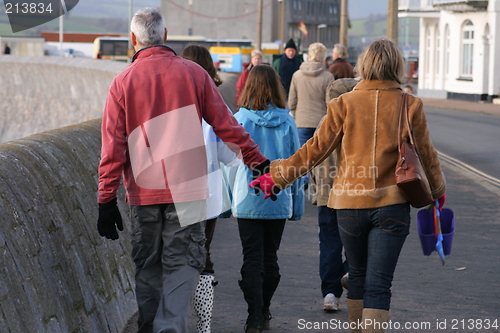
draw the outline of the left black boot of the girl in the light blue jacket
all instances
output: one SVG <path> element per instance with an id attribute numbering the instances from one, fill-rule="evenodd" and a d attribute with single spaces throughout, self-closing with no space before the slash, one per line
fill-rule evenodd
<path id="1" fill-rule="evenodd" d="M 262 330 L 262 277 L 245 276 L 238 281 L 243 296 L 248 304 L 248 317 L 245 325 L 246 333 L 260 333 Z"/>

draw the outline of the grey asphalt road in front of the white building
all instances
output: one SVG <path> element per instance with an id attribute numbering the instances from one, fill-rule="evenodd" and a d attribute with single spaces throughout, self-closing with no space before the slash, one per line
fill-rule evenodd
<path id="1" fill-rule="evenodd" d="M 500 179 L 500 116 L 425 108 L 435 148 Z"/>

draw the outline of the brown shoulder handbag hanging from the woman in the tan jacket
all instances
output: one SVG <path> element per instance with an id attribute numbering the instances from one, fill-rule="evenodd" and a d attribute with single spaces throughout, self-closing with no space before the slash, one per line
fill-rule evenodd
<path id="1" fill-rule="evenodd" d="M 403 119 L 405 118 L 405 119 Z M 408 140 L 401 141 L 403 121 L 406 121 L 408 129 Z M 401 111 L 399 114 L 398 130 L 398 162 L 396 164 L 396 184 L 401 193 L 415 208 L 424 207 L 434 202 L 432 199 L 431 188 L 425 174 L 424 168 L 420 163 L 420 158 L 415 149 L 415 142 L 408 120 L 408 94 L 403 93 L 401 102 Z"/>

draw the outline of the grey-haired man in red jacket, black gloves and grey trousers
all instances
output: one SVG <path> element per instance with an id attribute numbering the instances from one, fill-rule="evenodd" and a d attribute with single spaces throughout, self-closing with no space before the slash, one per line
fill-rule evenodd
<path id="1" fill-rule="evenodd" d="M 187 316 L 205 265 L 207 160 L 202 118 L 255 175 L 269 160 L 227 110 L 199 65 L 163 45 L 157 9 L 130 25 L 135 55 L 111 83 L 102 118 L 99 234 L 123 230 L 117 189 L 123 174 L 131 206 L 132 257 L 140 333 L 187 332 Z"/>

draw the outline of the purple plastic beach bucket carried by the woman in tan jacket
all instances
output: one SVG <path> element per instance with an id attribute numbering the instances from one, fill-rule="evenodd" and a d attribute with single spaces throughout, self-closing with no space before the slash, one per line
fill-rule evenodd
<path id="1" fill-rule="evenodd" d="M 441 211 L 441 233 L 443 235 L 444 255 L 451 253 L 453 234 L 455 233 L 455 213 L 449 208 Z M 421 209 L 417 213 L 417 231 L 425 256 L 436 250 L 436 236 L 434 235 L 434 212 L 432 209 Z"/>

